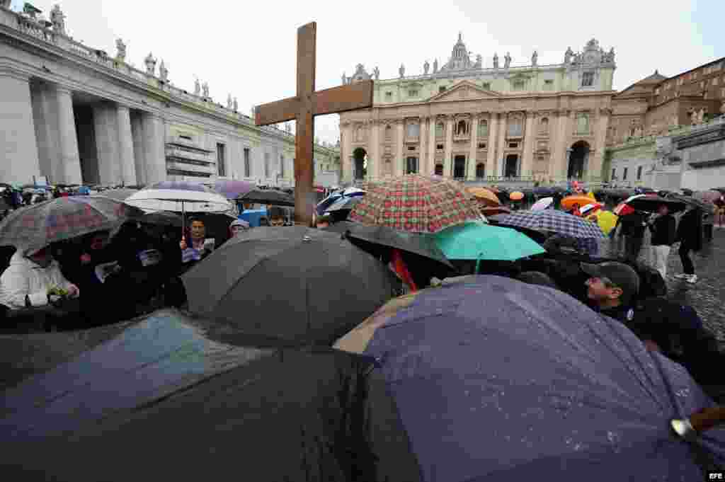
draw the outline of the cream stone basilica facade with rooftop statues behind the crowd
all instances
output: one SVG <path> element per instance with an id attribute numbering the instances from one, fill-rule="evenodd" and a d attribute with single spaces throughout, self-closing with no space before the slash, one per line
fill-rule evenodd
<path id="1" fill-rule="evenodd" d="M 381 80 L 357 65 L 344 83 L 373 79 L 371 109 L 340 115 L 342 179 L 404 173 L 468 181 L 602 178 L 614 50 L 592 39 L 563 63 L 519 67 L 510 54 L 484 67 L 459 35 L 450 59 L 422 75 Z"/>

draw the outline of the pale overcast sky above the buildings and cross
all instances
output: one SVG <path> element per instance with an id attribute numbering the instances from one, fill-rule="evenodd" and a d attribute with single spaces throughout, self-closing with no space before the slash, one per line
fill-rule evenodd
<path id="1" fill-rule="evenodd" d="M 423 62 L 445 62 L 458 32 L 469 51 L 492 66 L 494 51 L 511 52 L 512 65 L 563 61 L 568 46 L 580 51 L 590 38 L 616 51 L 614 88 L 652 74 L 676 75 L 725 57 L 721 22 L 725 1 L 168 1 L 35 0 L 49 14 L 60 4 L 70 35 L 115 55 L 115 39 L 128 46 L 127 61 L 143 68 L 152 51 L 164 59 L 176 86 L 194 89 L 198 76 L 215 101 L 227 94 L 249 114 L 254 104 L 294 96 L 297 28 L 318 24 L 316 88 L 341 83 L 362 63 L 381 78 L 423 73 Z M 22 8 L 22 0 L 14 0 Z M 339 117 L 317 117 L 316 134 L 334 142 Z"/>

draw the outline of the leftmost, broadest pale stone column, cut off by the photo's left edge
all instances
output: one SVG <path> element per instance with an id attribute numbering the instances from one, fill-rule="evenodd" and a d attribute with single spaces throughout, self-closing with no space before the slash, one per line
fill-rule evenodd
<path id="1" fill-rule="evenodd" d="M 32 183 L 41 175 L 30 100 L 30 77 L 0 67 L 0 179 Z"/>

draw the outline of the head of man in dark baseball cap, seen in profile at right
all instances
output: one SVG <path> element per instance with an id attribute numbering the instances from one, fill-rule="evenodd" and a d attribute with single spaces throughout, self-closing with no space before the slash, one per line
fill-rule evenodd
<path id="1" fill-rule="evenodd" d="M 585 284 L 593 309 L 622 323 L 634 318 L 631 303 L 639 291 L 639 275 L 634 269 L 608 261 L 599 265 L 581 263 L 581 270 L 590 276 Z"/>

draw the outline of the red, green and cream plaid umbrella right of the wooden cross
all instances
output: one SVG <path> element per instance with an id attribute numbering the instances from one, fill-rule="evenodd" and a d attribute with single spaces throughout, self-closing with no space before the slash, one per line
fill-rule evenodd
<path id="1" fill-rule="evenodd" d="M 407 174 L 368 185 L 348 219 L 413 233 L 437 233 L 480 220 L 476 201 L 460 183 L 440 176 Z"/>

